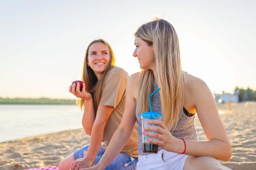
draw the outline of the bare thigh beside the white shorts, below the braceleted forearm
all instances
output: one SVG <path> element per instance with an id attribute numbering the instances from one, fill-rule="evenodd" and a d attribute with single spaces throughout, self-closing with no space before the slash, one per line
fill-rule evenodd
<path id="1" fill-rule="evenodd" d="M 183 170 L 231 170 L 208 156 L 188 156 Z"/>

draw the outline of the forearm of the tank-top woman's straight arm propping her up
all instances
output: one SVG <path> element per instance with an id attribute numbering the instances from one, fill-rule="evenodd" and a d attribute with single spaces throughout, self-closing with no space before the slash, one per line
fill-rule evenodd
<path id="1" fill-rule="evenodd" d="M 109 142 L 106 152 L 103 154 L 98 163 L 99 170 L 104 170 L 118 155 L 118 153 L 121 152 L 126 142 L 129 140 L 131 134 L 132 131 L 125 131 L 124 129 L 120 128 L 120 126 L 118 127 Z"/>

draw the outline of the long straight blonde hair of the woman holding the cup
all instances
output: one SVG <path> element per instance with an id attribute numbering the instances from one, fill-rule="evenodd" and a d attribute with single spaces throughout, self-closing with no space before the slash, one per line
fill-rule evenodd
<path id="1" fill-rule="evenodd" d="M 169 22 L 158 19 L 141 25 L 135 36 L 153 45 L 156 55 L 156 77 L 151 69 L 142 69 L 139 78 L 138 107 L 149 111 L 148 97 L 153 92 L 153 82 L 158 84 L 163 122 L 171 129 L 177 125 L 182 109 L 182 69 L 177 33 Z"/>

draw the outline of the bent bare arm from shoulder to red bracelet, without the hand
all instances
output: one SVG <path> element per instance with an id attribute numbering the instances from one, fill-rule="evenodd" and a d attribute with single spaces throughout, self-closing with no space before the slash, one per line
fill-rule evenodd
<path id="1" fill-rule="evenodd" d="M 187 141 L 186 154 L 211 156 L 219 160 L 230 159 L 232 151 L 226 130 L 219 117 L 217 106 L 208 86 L 198 78 L 190 83 L 191 99 L 208 141 Z"/>

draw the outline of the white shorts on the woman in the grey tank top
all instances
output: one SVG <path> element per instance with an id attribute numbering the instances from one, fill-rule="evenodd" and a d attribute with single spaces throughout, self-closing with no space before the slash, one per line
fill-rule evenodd
<path id="1" fill-rule="evenodd" d="M 162 152 L 163 159 L 162 160 Z M 188 155 L 160 150 L 158 153 L 138 155 L 137 170 L 183 170 Z"/>

